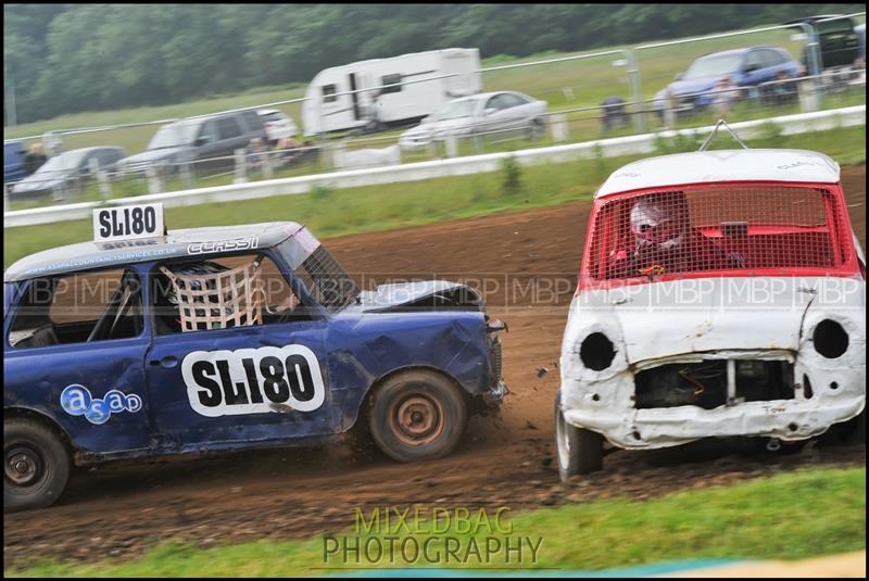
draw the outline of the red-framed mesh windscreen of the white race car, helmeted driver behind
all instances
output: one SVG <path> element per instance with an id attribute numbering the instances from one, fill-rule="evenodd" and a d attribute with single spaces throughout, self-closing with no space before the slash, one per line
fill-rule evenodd
<path id="1" fill-rule="evenodd" d="M 703 186 L 618 197 L 600 206 L 588 273 L 595 279 L 729 269 L 836 267 L 840 209 L 808 187 Z"/>

